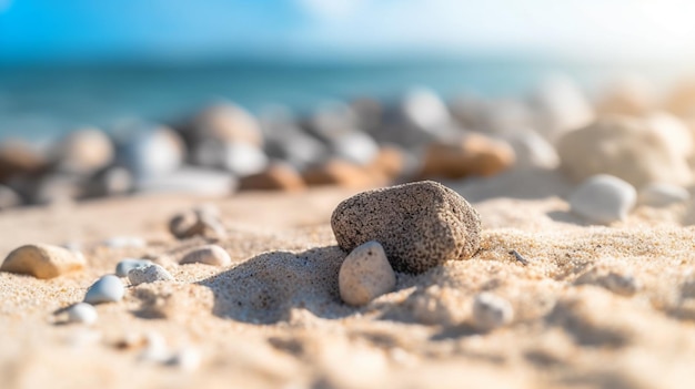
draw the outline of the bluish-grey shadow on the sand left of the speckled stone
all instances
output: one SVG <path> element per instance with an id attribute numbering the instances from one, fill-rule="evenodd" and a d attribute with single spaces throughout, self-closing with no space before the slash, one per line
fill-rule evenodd
<path id="1" fill-rule="evenodd" d="M 354 308 L 342 304 L 338 290 L 344 257 L 338 246 L 296 254 L 270 252 L 198 285 L 212 290 L 212 313 L 222 318 L 273 324 L 289 319 L 294 308 L 321 318 L 340 318 L 354 314 Z"/>

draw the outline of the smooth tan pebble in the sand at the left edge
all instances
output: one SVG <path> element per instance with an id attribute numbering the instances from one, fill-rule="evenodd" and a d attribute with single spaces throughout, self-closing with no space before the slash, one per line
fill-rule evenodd
<path id="1" fill-rule="evenodd" d="M 84 268 L 84 258 L 71 250 L 52 245 L 26 245 L 11 252 L 0 272 L 28 274 L 47 279 Z"/>

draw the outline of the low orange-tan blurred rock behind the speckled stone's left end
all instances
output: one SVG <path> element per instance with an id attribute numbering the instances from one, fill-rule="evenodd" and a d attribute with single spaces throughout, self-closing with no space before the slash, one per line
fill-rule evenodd
<path id="1" fill-rule="evenodd" d="M 342 160 L 331 160 L 311 167 L 302 174 L 302 177 L 309 186 L 369 187 L 383 183 L 383 176 L 370 173 L 363 166 Z"/>

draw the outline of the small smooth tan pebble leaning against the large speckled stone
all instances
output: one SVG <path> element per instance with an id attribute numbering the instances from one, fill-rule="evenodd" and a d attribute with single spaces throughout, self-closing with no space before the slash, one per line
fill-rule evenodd
<path id="1" fill-rule="evenodd" d="M 343 301 L 361 306 L 395 288 L 395 273 L 379 242 L 367 242 L 350 253 L 338 276 Z"/>

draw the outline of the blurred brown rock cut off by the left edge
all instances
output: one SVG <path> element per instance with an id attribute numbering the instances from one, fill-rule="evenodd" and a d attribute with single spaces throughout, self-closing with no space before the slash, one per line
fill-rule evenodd
<path id="1" fill-rule="evenodd" d="M 0 143 L 0 183 L 26 174 L 46 171 L 46 157 L 28 143 L 20 140 L 7 140 Z"/>

